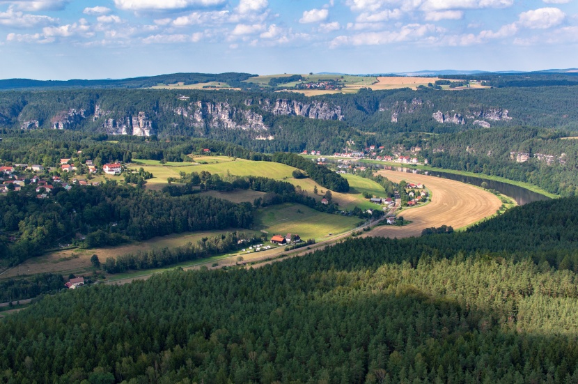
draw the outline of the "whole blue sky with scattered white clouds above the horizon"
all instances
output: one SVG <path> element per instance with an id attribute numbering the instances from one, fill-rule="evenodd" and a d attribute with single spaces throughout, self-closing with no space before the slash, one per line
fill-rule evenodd
<path id="1" fill-rule="evenodd" d="M 578 0 L 0 0 L 0 78 L 578 67 Z"/>

